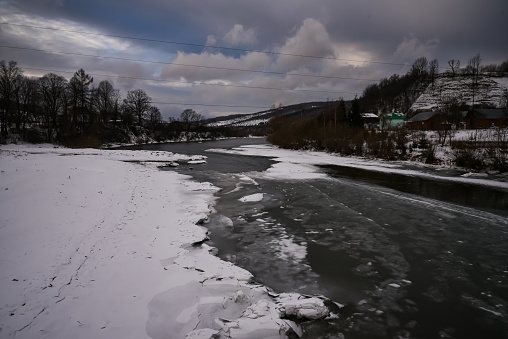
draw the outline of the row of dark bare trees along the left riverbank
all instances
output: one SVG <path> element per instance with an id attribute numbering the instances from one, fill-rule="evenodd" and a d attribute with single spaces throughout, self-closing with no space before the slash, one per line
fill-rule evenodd
<path id="1" fill-rule="evenodd" d="M 17 135 L 29 142 L 127 142 L 127 133 L 148 133 L 158 141 L 182 131 L 203 131 L 203 116 L 186 109 L 163 123 L 158 107 L 142 89 L 120 91 L 108 81 L 97 85 L 79 69 L 67 80 L 47 73 L 28 77 L 15 61 L 0 61 L 0 142 Z"/>

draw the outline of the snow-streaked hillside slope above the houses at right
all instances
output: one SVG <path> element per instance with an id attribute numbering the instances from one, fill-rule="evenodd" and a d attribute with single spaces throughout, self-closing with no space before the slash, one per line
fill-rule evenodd
<path id="1" fill-rule="evenodd" d="M 473 91 L 472 76 L 442 75 L 430 84 L 413 103 L 410 111 L 430 111 L 438 109 L 445 102 L 456 100 L 460 104 L 471 106 L 482 104 L 499 107 L 506 100 L 508 91 L 508 77 L 493 77 L 483 75 L 478 79 L 478 85 Z"/>

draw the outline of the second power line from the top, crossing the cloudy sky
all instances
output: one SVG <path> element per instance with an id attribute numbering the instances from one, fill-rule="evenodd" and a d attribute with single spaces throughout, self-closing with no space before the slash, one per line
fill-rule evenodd
<path id="1" fill-rule="evenodd" d="M 355 81 L 370 81 L 370 82 L 372 82 L 372 81 L 377 82 L 378 81 L 378 80 L 375 80 L 375 79 L 364 79 L 364 78 L 353 78 L 353 77 L 338 77 L 338 76 L 312 75 L 312 74 L 300 74 L 300 73 L 284 73 L 284 72 L 275 72 L 275 71 L 260 71 L 260 70 L 240 69 L 240 68 L 228 68 L 228 67 L 217 67 L 217 66 L 180 64 L 180 63 L 173 63 L 173 62 L 167 62 L 167 61 L 153 61 L 153 60 L 132 59 L 132 58 L 122 58 L 122 57 L 113 57 L 113 56 L 102 56 L 102 55 L 74 53 L 74 52 L 50 51 L 50 50 L 45 50 L 45 49 L 29 48 L 29 47 L 19 47 L 19 46 L 0 45 L 0 48 L 10 48 L 10 49 L 25 50 L 25 51 L 33 51 L 33 52 L 51 53 L 51 54 L 63 54 L 63 55 L 83 56 L 83 57 L 91 57 L 91 58 L 99 58 L 99 59 L 112 59 L 112 60 L 120 60 L 120 61 L 134 61 L 134 62 L 144 62 L 144 63 L 152 63 L 152 64 L 169 65 L 169 66 L 183 66 L 183 67 L 205 68 L 205 69 L 237 71 L 237 72 L 262 73 L 262 74 L 272 74 L 272 75 L 289 75 L 289 76 L 301 76 L 301 77 L 323 78 L 323 79 L 355 80 Z"/>

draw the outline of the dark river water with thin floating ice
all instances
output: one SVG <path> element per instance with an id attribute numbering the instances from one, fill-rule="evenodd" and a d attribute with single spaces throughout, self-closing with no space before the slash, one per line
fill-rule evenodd
<path id="1" fill-rule="evenodd" d="M 222 189 L 206 224 L 219 256 L 275 291 L 344 305 L 303 324 L 307 338 L 508 338 L 506 190 L 336 166 L 274 180 L 268 158 L 207 152 L 262 143 L 136 148 L 208 156 L 176 170 Z"/>

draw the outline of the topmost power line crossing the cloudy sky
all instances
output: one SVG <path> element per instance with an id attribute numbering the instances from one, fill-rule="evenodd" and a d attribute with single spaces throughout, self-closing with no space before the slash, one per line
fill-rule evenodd
<path id="1" fill-rule="evenodd" d="M 126 36 L 126 35 L 94 33 L 94 32 L 87 32 L 87 31 L 78 31 L 78 30 L 55 28 L 55 27 L 43 27 L 43 26 L 36 26 L 36 25 L 16 24 L 16 23 L 12 23 L 12 22 L 0 22 L 0 25 L 9 25 L 9 26 L 18 26 L 18 27 L 45 29 L 45 30 L 51 30 L 51 31 L 60 31 L 60 32 L 67 32 L 67 33 L 79 33 L 79 34 L 95 35 L 95 36 L 105 36 L 105 37 L 110 37 L 110 38 L 120 38 L 120 39 L 136 40 L 136 41 L 156 42 L 156 43 L 163 43 L 163 44 L 169 44 L 169 45 L 180 45 L 180 46 L 200 47 L 200 48 L 216 48 L 216 49 L 230 50 L 230 51 L 236 51 L 236 52 L 264 53 L 264 54 L 270 54 L 270 55 L 293 56 L 293 57 L 300 57 L 300 58 L 312 58 L 312 59 L 323 59 L 323 60 L 347 61 L 347 62 L 369 63 L 369 64 L 379 64 L 379 65 L 406 66 L 406 67 L 409 66 L 408 64 L 405 64 L 405 63 L 396 63 L 396 62 L 368 61 L 368 60 L 356 60 L 356 59 L 346 59 L 346 58 L 336 58 L 336 57 L 322 57 L 322 56 L 316 56 L 316 55 L 292 54 L 292 53 L 282 53 L 282 52 L 273 52 L 273 51 L 261 51 L 261 50 L 236 48 L 236 47 L 225 47 L 225 46 L 213 46 L 213 45 L 206 45 L 206 44 L 196 44 L 196 43 L 188 43 L 188 42 L 181 42 L 181 41 L 170 41 L 170 40 L 161 40 L 161 39 L 140 38 L 140 37 L 132 37 L 132 36 Z"/>

